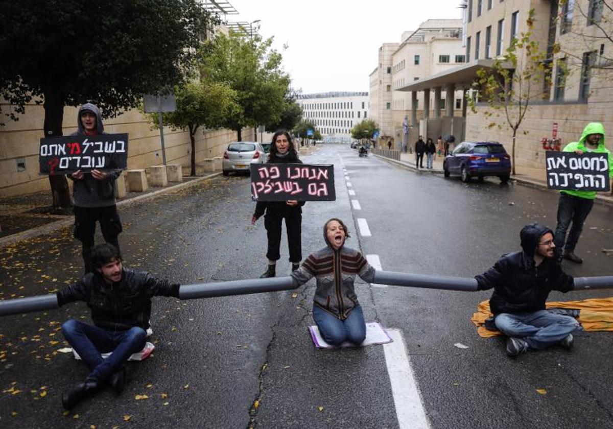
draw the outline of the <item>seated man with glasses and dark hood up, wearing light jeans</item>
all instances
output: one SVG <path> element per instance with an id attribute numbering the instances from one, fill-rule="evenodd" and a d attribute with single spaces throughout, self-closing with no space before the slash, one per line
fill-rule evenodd
<path id="1" fill-rule="evenodd" d="M 520 238 L 523 251 L 504 255 L 475 277 L 479 290 L 494 289 L 490 310 L 498 330 L 509 337 L 506 352 L 516 356 L 553 344 L 571 349 L 579 322 L 545 309 L 551 290 L 574 289 L 573 277 L 555 259 L 554 233 L 535 223 L 522 228 Z"/>

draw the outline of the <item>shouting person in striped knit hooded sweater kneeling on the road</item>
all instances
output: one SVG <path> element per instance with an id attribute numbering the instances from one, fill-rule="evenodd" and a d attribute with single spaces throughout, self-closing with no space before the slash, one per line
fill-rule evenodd
<path id="1" fill-rule="evenodd" d="M 375 268 L 359 251 L 345 246 L 349 230 L 343 221 L 332 218 L 324 224 L 326 247 L 310 254 L 292 273 L 299 286 L 317 279 L 313 297 L 313 319 L 326 343 L 338 346 L 345 341 L 362 344 L 366 323 L 357 301 L 356 275 L 367 283 L 375 279 Z"/>

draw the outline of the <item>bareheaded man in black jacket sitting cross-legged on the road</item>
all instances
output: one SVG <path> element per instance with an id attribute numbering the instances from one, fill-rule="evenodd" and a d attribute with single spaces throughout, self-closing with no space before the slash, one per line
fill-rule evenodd
<path id="1" fill-rule="evenodd" d="M 64 392 L 62 403 L 70 409 L 79 401 L 109 383 L 117 393 L 123 391 L 124 363 L 145 346 L 151 297 L 178 297 L 179 285 L 153 278 L 145 271 L 134 271 L 121 264 L 118 249 L 104 243 L 93 248 L 94 272 L 57 292 L 58 305 L 83 301 L 91 308 L 94 325 L 70 319 L 62 333 L 91 371 L 85 382 Z M 112 352 L 107 359 L 102 353 Z"/>

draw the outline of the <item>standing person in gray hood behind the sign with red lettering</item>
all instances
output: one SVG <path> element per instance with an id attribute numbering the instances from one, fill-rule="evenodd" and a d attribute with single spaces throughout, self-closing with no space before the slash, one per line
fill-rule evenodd
<path id="1" fill-rule="evenodd" d="M 83 104 L 77 113 L 77 131 L 71 135 L 105 134 L 102 115 L 96 105 Z M 121 170 L 77 170 L 67 177 L 74 181 L 73 211 L 75 214 L 74 237 L 81 241 L 85 273 L 92 271 L 89 265 L 94 247 L 96 222 L 99 222 L 104 241 L 119 249 L 118 235 L 123 230 L 115 201 L 115 180 Z"/>

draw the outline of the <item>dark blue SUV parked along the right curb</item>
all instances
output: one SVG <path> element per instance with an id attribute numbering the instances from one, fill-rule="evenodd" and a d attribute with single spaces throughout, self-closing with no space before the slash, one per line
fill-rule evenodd
<path id="1" fill-rule="evenodd" d="M 511 177 L 511 157 L 498 142 L 462 142 L 443 161 L 445 177 L 459 175 L 463 182 L 497 176 L 502 183 Z"/>

